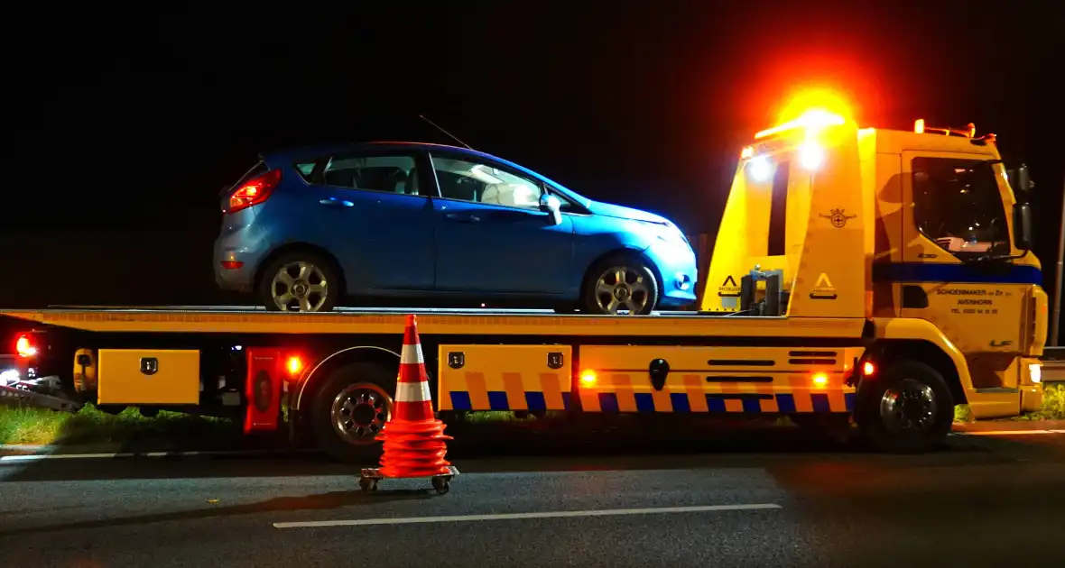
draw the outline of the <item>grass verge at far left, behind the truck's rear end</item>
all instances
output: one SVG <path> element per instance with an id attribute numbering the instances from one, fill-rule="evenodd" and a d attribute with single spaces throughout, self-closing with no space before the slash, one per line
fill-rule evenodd
<path id="1" fill-rule="evenodd" d="M 76 414 L 0 406 L 0 444 L 127 444 L 160 440 L 216 445 L 235 440 L 240 431 L 229 420 L 161 412 L 141 416 L 136 408 L 112 415 L 85 405 Z"/>

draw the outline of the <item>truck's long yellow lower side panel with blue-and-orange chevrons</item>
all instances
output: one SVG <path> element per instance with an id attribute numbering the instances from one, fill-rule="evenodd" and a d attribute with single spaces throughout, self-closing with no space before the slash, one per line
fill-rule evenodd
<path id="1" fill-rule="evenodd" d="M 580 349 L 580 368 L 594 371 L 591 381 L 581 382 L 573 374 L 568 346 L 440 346 L 437 400 L 441 411 L 474 412 L 849 413 L 855 392 L 845 377 L 848 362 L 861 353 L 846 348 L 593 346 Z M 552 354 L 555 363 L 548 364 Z M 643 369 L 667 356 L 677 370 L 655 390 Z M 819 374 L 823 384 L 814 383 Z"/>

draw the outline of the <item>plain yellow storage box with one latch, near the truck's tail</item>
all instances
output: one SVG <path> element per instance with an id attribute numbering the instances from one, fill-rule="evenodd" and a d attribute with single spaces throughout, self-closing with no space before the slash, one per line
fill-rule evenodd
<path id="1" fill-rule="evenodd" d="M 101 349 L 100 404 L 199 404 L 199 351 Z"/>

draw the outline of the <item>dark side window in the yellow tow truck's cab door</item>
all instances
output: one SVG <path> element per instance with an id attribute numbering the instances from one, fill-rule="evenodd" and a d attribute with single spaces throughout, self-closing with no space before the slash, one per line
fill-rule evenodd
<path id="1" fill-rule="evenodd" d="M 1005 211 L 989 162 L 915 157 L 914 220 L 960 258 L 1010 252 Z"/>

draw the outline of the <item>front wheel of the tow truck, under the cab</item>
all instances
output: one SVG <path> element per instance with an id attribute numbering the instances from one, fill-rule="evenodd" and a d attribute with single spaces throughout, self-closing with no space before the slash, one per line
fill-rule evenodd
<path id="1" fill-rule="evenodd" d="M 899 361 L 859 390 L 858 425 L 881 451 L 920 453 L 941 444 L 954 420 L 954 401 L 939 371 Z"/>

